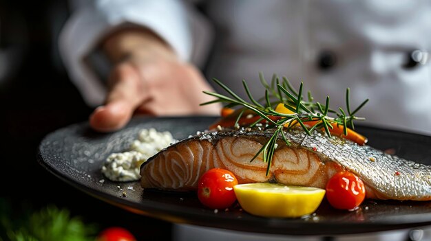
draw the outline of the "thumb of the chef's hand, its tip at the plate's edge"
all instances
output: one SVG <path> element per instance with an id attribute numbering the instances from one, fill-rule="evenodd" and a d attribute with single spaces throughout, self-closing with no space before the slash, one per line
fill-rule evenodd
<path id="1" fill-rule="evenodd" d="M 143 102 L 138 71 L 130 65 L 119 65 L 111 76 L 112 88 L 107 94 L 106 104 L 99 106 L 90 115 L 90 126 L 101 132 L 123 128 L 132 117 L 135 108 Z"/>

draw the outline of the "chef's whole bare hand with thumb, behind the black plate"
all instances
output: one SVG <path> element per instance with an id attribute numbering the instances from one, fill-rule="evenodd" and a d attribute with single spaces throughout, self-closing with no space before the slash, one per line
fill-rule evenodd
<path id="1" fill-rule="evenodd" d="M 109 77 L 103 106 L 90 115 L 101 132 L 122 128 L 134 113 L 147 115 L 218 115 L 220 106 L 202 91 L 213 91 L 201 73 L 145 30 L 123 30 L 107 38 L 103 49 L 117 63 Z"/>

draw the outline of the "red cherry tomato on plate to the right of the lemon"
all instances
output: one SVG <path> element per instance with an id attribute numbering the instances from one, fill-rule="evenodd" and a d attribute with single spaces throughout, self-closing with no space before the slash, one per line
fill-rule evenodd
<path id="1" fill-rule="evenodd" d="M 326 198 L 336 209 L 355 209 L 365 198 L 365 186 L 350 172 L 338 172 L 326 184 Z"/>

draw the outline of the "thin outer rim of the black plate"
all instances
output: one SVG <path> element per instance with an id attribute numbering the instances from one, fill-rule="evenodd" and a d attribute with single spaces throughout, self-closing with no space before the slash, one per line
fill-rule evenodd
<path id="1" fill-rule="evenodd" d="M 212 116 L 187 116 L 187 117 L 134 117 L 132 119 L 132 122 L 129 122 L 129 124 L 127 124 L 127 127 L 130 127 L 132 125 L 134 125 L 135 122 L 142 122 L 143 119 L 145 119 L 145 121 L 149 121 L 151 119 L 189 119 L 189 118 L 208 118 L 208 119 L 213 119 L 216 117 L 212 117 Z M 228 229 L 229 226 L 228 225 L 224 225 L 224 227 L 221 227 L 220 225 L 216 225 L 216 226 L 211 226 L 211 225 L 206 225 L 206 223 L 201 223 L 199 222 L 200 220 L 204 220 L 205 218 L 208 218 L 208 214 L 207 212 L 202 212 L 202 213 L 198 213 L 196 211 L 196 208 L 191 208 L 191 207 L 182 207 L 182 209 L 178 210 L 174 210 L 176 215 L 174 216 L 169 216 L 166 214 L 167 211 L 172 211 L 172 209 L 174 209 L 174 207 L 178 207 L 178 205 L 173 205 L 173 204 L 167 204 L 167 203 L 162 203 L 162 205 L 160 206 L 151 206 L 149 207 L 149 205 L 147 205 L 147 203 L 145 203 L 143 206 L 139 206 L 137 203 L 134 203 L 130 200 L 127 200 L 127 198 L 123 198 L 121 196 L 113 196 L 112 194 L 108 194 L 105 192 L 101 192 L 100 190 L 94 189 L 92 187 L 87 187 L 84 183 L 78 182 L 74 179 L 72 179 L 72 176 L 68 176 L 65 175 L 64 172 L 61 172 L 60 170 L 57 170 L 54 166 L 50 165 L 50 163 L 48 163 L 47 161 L 45 161 L 45 159 L 43 158 L 43 143 L 49 139 L 50 137 L 52 137 L 53 135 L 56 135 L 56 133 L 65 131 L 69 128 L 72 128 L 72 126 L 79 126 L 84 128 L 85 126 L 89 126 L 88 122 L 78 122 L 75 124 L 71 124 L 69 126 L 65 126 L 63 128 L 59 128 L 57 130 L 54 130 L 53 132 L 49 133 L 48 135 L 45 135 L 45 137 L 43 137 L 43 139 L 41 140 L 40 144 L 39 144 L 39 148 L 38 148 L 38 152 L 37 152 L 37 160 L 39 162 L 40 165 L 43 166 L 43 168 L 45 170 L 47 170 L 48 172 L 50 172 L 51 174 L 54 174 L 54 176 L 56 176 L 57 178 L 61 179 L 62 181 L 64 181 L 65 183 L 67 183 L 68 185 L 72 185 L 74 188 L 85 192 L 85 194 L 88 194 L 90 196 L 93 196 L 94 198 L 98 198 L 100 200 L 103 200 L 104 202 L 107 202 L 109 204 L 112 205 L 116 205 L 117 207 L 121 207 L 123 209 L 127 209 L 127 207 L 133 207 L 136 210 L 131 210 L 131 209 L 127 209 L 128 211 L 132 211 L 132 212 L 136 212 L 138 214 L 143 214 L 145 216 L 149 216 L 151 218 L 158 218 L 158 219 L 162 219 L 162 220 L 166 220 L 168 222 L 177 222 L 177 223 L 184 223 L 184 224 L 191 224 L 191 225 L 200 225 L 203 227 L 216 227 L 216 228 L 222 228 L 222 229 Z M 422 135 L 422 134 L 418 134 L 418 133 L 408 133 L 406 131 L 403 130 L 392 130 L 389 128 L 379 128 L 379 127 L 375 127 L 375 126 L 365 126 L 365 125 L 357 125 L 360 128 L 369 128 L 369 129 L 377 129 L 377 130 L 383 130 L 385 132 L 390 132 L 390 133 L 400 133 L 400 134 L 404 134 L 404 135 L 414 135 L 414 136 L 421 136 L 421 137 L 425 137 L 425 138 L 430 138 L 428 135 Z M 134 181 L 134 182 L 130 182 L 130 183 L 135 183 L 138 181 Z M 145 191 L 144 191 L 145 192 Z M 96 195 L 95 195 L 96 193 Z M 114 202 L 112 201 L 112 198 L 114 198 Z M 150 203 L 156 203 L 156 201 L 154 200 L 150 200 Z M 142 203 L 141 203 L 142 204 Z M 139 207 L 138 207 L 139 206 Z M 142 209 L 142 207 L 145 207 L 145 210 Z M 162 208 L 164 207 L 164 208 Z M 166 209 L 166 207 L 168 207 Z M 155 211 L 156 214 L 151 214 L 149 213 L 149 209 L 151 209 L 151 211 Z M 160 214 L 162 214 L 162 216 L 160 216 Z M 181 220 L 178 219 L 178 214 L 187 214 L 187 216 L 192 216 L 193 220 L 190 220 L 190 218 L 187 218 L 187 220 Z M 339 232 L 335 233 L 335 234 L 353 234 L 353 233 L 369 233 L 369 232 L 375 232 L 375 231 L 389 231 L 389 230 L 395 230 L 395 229 L 403 229 L 403 228 L 410 228 L 410 227 L 419 227 L 419 226 L 423 226 L 423 225 L 428 225 L 431 224 L 431 220 L 430 218 L 424 218 L 425 216 L 429 216 L 430 214 L 409 214 L 411 216 L 414 216 L 415 218 L 417 218 L 417 220 L 428 220 L 426 222 L 406 222 L 406 220 L 404 219 L 399 219 L 397 220 L 397 222 L 390 222 L 390 220 L 377 220 L 374 222 L 346 222 L 346 221 L 325 221 L 325 222 L 297 222 L 298 219 L 290 219 L 290 218 L 260 218 L 260 217 L 255 217 L 255 220 L 251 220 L 248 222 L 253 222 L 253 225 L 259 225 L 259 229 L 253 229 L 253 230 L 249 230 L 249 229 L 232 229 L 232 230 L 236 230 L 236 231 L 252 231 L 255 233 L 273 233 L 273 231 L 275 229 L 279 229 L 279 227 L 274 227 L 274 226 L 265 226 L 265 223 L 268 224 L 268 220 L 271 220 L 271 225 L 275 225 L 275 224 L 283 224 L 283 225 L 293 225 L 293 227 L 288 227 L 286 229 L 286 231 L 282 231 L 282 232 L 277 232 L 278 234 L 286 234 L 286 235 L 297 235 L 297 236 L 309 236 L 309 235 L 328 235 L 328 234 L 334 234 L 333 230 L 330 229 L 328 231 L 326 230 L 326 227 L 332 227 L 333 225 L 337 225 L 337 228 L 339 229 Z M 422 217 L 422 218 L 421 218 Z M 225 218 L 224 216 L 217 216 L 217 218 L 220 220 L 227 220 L 227 221 L 231 221 L 232 218 Z M 275 221 L 274 221 L 275 220 Z M 296 221 L 295 221 L 296 220 Z M 229 222 L 227 222 L 229 223 Z M 263 226 L 262 226 L 263 225 Z M 323 231 L 320 232 L 316 232 L 316 233 L 304 233 L 303 231 L 295 231 L 295 228 L 297 228 L 297 226 L 303 226 L 306 225 L 309 227 L 309 229 L 319 229 Z M 359 225 L 361 226 L 360 231 L 354 231 L 351 229 L 351 227 L 353 225 Z M 223 226 L 223 225 L 222 225 Z M 296 226 L 296 227 L 295 227 Z M 378 226 L 378 227 L 376 227 Z M 263 228 L 263 229 L 262 229 Z M 363 229 L 368 229 L 369 231 L 364 231 Z"/>

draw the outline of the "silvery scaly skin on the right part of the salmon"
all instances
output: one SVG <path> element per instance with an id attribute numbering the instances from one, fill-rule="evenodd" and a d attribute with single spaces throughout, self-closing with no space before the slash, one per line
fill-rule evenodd
<path id="1" fill-rule="evenodd" d="M 408 161 L 353 141 L 326 135 L 291 135 L 303 148 L 315 148 L 322 159 L 330 159 L 357 174 L 378 199 L 430 200 L 431 166 Z M 370 192 L 371 190 L 367 190 Z"/>

